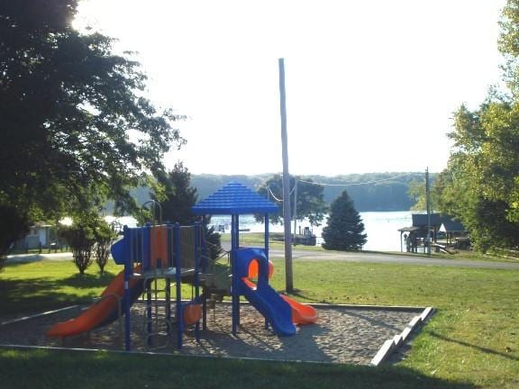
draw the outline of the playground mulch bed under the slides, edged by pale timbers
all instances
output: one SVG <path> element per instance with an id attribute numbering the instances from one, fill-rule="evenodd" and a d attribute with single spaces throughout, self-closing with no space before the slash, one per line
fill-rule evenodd
<path id="1" fill-rule="evenodd" d="M 123 349 L 117 322 L 89 335 L 64 341 L 45 337 L 45 330 L 52 324 L 74 318 L 84 308 L 72 307 L 21 321 L 4 321 L 0 327 L 0 344 Z M 153 337 L 153 348 L 146 347 L 145 309 L 141 304 L 135 304 L 132 307 L 132 349 L 191 356 L 369 365 L 384 342 L 399 335 L 421 313 L 419 309 L 324 304 L 316 306 L 316 309 L 319 313 L 316 324 L 299 326 L 295 336 L 280 338 L 265 330 L 265 320 L 259 312 L 250 304 L 243 303 L 241 326 L 233 336 L 231 304 L 217 303 L 207 312 L 207 330 L 200 332 L 200 342 L 196 342 L 194 330 L 188 329 L 184 333 L 183 348 L 178 350 L 175 328 L 171 336 Z M 158 312 L 157 330 L 165 328 L 162 317 Z"/>

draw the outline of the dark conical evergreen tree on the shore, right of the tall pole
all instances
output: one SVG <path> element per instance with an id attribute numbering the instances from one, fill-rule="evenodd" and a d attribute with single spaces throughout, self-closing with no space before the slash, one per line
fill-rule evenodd
<path id="1" fill-rule="evenodd" d="M 347 191 L 332 203 L 328 222 L 323 228 L 323 249 L 350 251 L 362 249 L 367 235 L 364 223 Z"/>

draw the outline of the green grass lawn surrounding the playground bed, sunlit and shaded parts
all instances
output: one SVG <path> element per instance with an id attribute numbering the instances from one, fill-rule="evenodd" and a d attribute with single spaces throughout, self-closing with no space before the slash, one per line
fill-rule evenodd
<path id="1" fill-rule="evenodd" d="M 284 288 L 282 261 L 272 285 Z M 7 265 L 0 315 L 86 303 L 121 267 L 76 276 L 69 262 Z M 296 299 L 318 303 L 432 305 L 438 312 L 396 366 L 331 366 L 220 358 L 0 348 L 2 387 L 384 387 L 519 385 L 519 271 L 338 261 L 294 262 Z M 187 287 L 187 290 L 190 288 Z M 27 374 L 30 366 L 31 374 Z"/>

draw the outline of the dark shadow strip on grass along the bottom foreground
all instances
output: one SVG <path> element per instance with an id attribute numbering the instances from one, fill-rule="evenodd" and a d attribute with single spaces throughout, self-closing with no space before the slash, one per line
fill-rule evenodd
<path id="1" fill-rule="evenodd" d="M 0 348 L 3 388 L 248 387 L 475 389 L 401 367 Z M 31 367 L 31 375 L 27 374 Z M 66 374 L 63 374 L 66 372 Z M 96 372 L 96 374 L 92 374 Z M 42 379 L 44 378 L 44 379 Z"/>

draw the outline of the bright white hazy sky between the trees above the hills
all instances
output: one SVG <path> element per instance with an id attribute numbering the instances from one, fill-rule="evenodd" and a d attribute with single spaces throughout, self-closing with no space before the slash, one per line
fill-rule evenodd
<path id="1" fill-rule="evenodd" d="M 147 95 L 187 115 L 193 173 L 441 171 L 452 113 L 500 81 L 505 0 L 85 0 L 77 25 L 136 50 Z"/>

